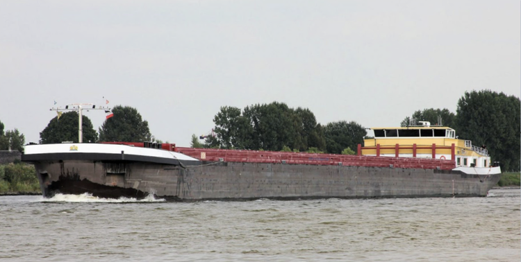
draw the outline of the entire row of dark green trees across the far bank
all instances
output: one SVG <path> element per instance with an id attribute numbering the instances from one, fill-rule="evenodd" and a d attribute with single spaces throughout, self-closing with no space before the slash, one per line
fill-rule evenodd
<path id="1" fill-rule="evenodd" d="M 493 161 L 504 171 L 520 170 L 520 99 L 490 90 L 470 91 L 458 100 L 454 114 L 447 109 L 424 109 L 406 116 L 401 126 L 430 121 L 456 130 L 459 139 L 474 145 L 486 145 Z M 156 141 L 138 110 L 116 105 L 114 116 L 104 121 L 98 132 L 83 116 L 83 141 Z M 193 147 L 328 152 L 354 154 L 367 136 L 365 128 L 354 121 L 336 121 L 322 125 L 308 108 L 291 108 L 285 103 L 249 105 L 244 109 L 223 106 L 213 117 L 213 133 L 204 141 L 192 135 Z M 42 132 L 40 143 L 78 142 L 78 113 L 55 116 Z M 0 150 L 23 150 L 24 134 L 18 130 L 3 132 L 0 122 Z"/>

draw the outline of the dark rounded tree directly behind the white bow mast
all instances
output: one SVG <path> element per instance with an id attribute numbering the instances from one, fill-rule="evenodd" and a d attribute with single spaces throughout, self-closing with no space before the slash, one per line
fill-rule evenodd
<path id="1" fill-rule="evenodd" d="M 72 141 L 78 143 L 78 112 L 65 112 L 60 116 L 55 116 L 42 132 L 40 132 L 40 143 L 61 143 Z M 98 134 L 92 128 L 92 122 L 87 116 L 82 115 L 83 142 L 95 143 Z"/>

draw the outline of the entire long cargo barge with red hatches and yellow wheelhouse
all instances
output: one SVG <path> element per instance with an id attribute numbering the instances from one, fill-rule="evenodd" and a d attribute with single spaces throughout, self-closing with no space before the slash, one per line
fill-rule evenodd
<path id="1" fill-rule="evenodd" d="M 25 146 L 42 193 L 165 200 L 482 197 L 501 169 L 452 128 L 372 128 L 356 155 L 182 148 L 171 143 Z"/>

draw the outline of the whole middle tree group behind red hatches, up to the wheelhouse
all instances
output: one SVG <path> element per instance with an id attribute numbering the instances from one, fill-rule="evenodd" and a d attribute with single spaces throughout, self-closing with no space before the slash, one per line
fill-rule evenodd
<path id="1" fill-rule="evenodd" d="M 224 106 L 213 118 L 214 135 L 204 143 L 192 135 L 193 147 L 294 152 L 354 153 L 367 134 L 351 121 L 321 125 L 308 108 L 285 103 L 256 104 L 240 109 Z"/>

